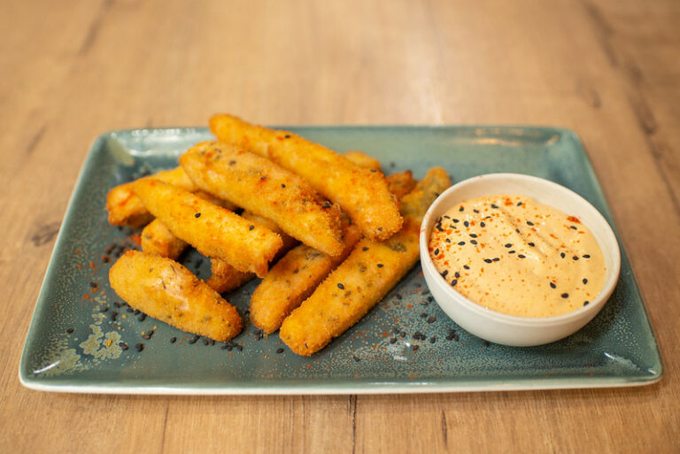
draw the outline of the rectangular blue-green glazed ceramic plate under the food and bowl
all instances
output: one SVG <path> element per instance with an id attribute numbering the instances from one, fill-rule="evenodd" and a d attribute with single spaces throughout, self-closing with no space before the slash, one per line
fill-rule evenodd
<path id="1" fill-rule="evenodd" d="M 364 150 L 385 173 L 421 178 L 444 166 L 453 181 L 528 173 L 575 190 L 614 226 L 578 138 L 540 127 L 289 127 L 331 149 Z M 113 186 L 177 165 L 205 129 L 140 129 L 101 135 L 83 165 L 42 284 L 19 376 L 28 388 L 147 394 L 336 394 L 633 386 L 661 377 L 661 358 L 630 262 L 586 327 L 560 342 L 513 348 L 483 342 L 448 319 L 416 265 L 354 327 L 311 358 L 248 322 L 258 281 L 226 295 L 245 320 L 229 343 L 197 338 L 122 304 L 107 273 L 138 230 L 111 227 Z M 614 228 L 615 231 L 615 228 Z M 196 251 L 180 261 L 206 278 Z M 425 335 L 416 340 L 413 335 Z M 420 335 L 416 337 L 421 337 Z"/>

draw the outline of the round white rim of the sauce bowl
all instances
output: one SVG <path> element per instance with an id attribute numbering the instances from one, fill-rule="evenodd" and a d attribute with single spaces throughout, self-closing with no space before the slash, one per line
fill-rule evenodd
<path id="1" fill-rule="evenodd" d="M 576 311 L 567 312 L 560 315 L 553 315 L 550 317 L 522 317 L 519 315 L 509 315 L 503 312 L 498 312 L 483 307 L 483 305 L 475 303 L 475 301 L 469 299 L 467 296 L 463 296 L 458 290 L 453 289 L 448 284 L 448 282 L 444 280 L 444 277 L 442 277 L 442 275 L 437 272 L 437 267 L 434 265 L 432 258 L 429 256 L 428 250 L 429 234 L 432 228 L 434 228 L 433 227 L 434 223 L 430 222 L 430 219 L 432 219 L 433 213 L 437 210 L 437 207 L 440 204 L 443 204 L 443 201 L 446 200 L 452 192 L 460 190 L 461 188 L 464 188 L 470 184 L 477 183 L 478 181 L 491 182 L 508 179 L 514 181 L 529 182 L 529 184 L 532 185 L 548 186 L 552 187 L 552 189 L 557 189 L 558 191 L 561 191 L 565 196 L 571 197 L 579 204 L 582 204 L 583 208 L 586 211 L 591 212 L 594 222 L 601 224 L 601 227 L 603 227 L 604 236 L 606 236 L 610 240 L 610 242 L 614 245 L 614 249 L 611 250 L 611 252 L 614 253 L 613 257 L 614 266 L 611 269 L 607 268 L 606 279 L 602 286 L 602 289 L 599 291 L 598 296 L 593 298 L 590 304 L 580 307 L 576 309 Z M 462 200 L 459 201 L 459 203 L 460 202 L 462 202 Z M 453 205 L 454 204 L 451 204 L 451 206 Z M 431 225 L 429 226 L 429 224 Z M 597 238 L 596 241 L 598 241 Z M 610 249 L 603 247 L 603 244 L 599 241 L 598 245 L 603 253 L 605 252 L 605 250 Z M 584 317 L 587 317 L 588 315 L 591 314 L 591 312 L 592 317 L 594 317 L 601 310 L 602 306 L 607 302 L 608 297 L 611 296 L 612 292 L 614 291 L 614 288 L 616 287 L 616 283 L 619 281 L 619 274 L 621 273 L 621 248 L 619 247 L 616 235 L 614 235 L 614 230 L 609 225 L 609 222 L 607 222 L 607 219 L 605 219 L 604 216 L 602 216 L 602 213 L 600 213 L 597 208 L 592 206 L 590 202 L 584 199 L 583 196 L 577 194 L 575 191 L 568 189 L 554 181 L 546 180 L 545 178 L 540 178 L 537 176 L 527 175 L 523 173 L 484 173 L 481 175 L 476 175 L 474 177 L 468 178 L 463 181 L 459 181 L 458 183 L 452 185 L 450 188 L 446 189 L 442 194 L 437 196 L 437 199 L 435 199 L 435 201 L 432 204 L 429 205 L 428 211 L 425 212 L 425 216 L 423 216 L 422 218 L 420 231 L 420 247 L 423 273 L 435 274 L 436 276 L 433 277 L 436 280 L 436 283 L 440 287 L 442 287 L 442 289 L 444 289 L 444 292 L 448 296 L 450 296 L 451 299 L 463 305 L 468 310 L 476 312 L 485 317 L 496 319 L 497 321 L 500 322 L 505 322 L 514 325 L 523 325 L 528 327 L 550 327 L 555 325 L 562 325 L 570 321 L 574 321 L 575 319 L 582 319 Z M 437 301 L 437 303 L 439 302 Z M 448 303 L 448 301 L 446 303 Z"/>

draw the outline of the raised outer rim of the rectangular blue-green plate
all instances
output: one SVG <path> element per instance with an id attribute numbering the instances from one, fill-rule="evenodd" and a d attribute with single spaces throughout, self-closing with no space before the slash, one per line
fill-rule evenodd
<path id="1" fill-rule="evenodd" d="M 373 382 L 362 382 L 359 386 L 346 385 L 346 381 L 337 383 L 334 381 L 322 382 L 321 385 L 317 382 L 305 383 L 301 382 L 299 385 L 275 385 L 275 388 L 269 387 L 266 384 L 259 383 L 255 386 L 247 386 L 247 383 L 243 381 L 233 381 L 237 384 L 235 386 L 205 386 L 201 388 L 199 383 L 195 385 L 184 384 L 184 385 L 174 385 L 170 384 L 168 386 L 145 386 L 137 384 L 135 381 L 130 382 L 128 385 L 116 385 L 108 384 L 84 384 L 84 385 L 73 385 L 68 384 L 71 381 L 69 378 L 62 380 L 50 380 L 45 381 L 42 379 L 36 379 L 31 377 L 26 373 L 27 361 L 28 361 L 28 347 L 31 342 L 34 342 L 35 335 L 38 333 L 37 323 L 39 314 L 42 312 L 43 304 L 41 301 L 45 298 L 43 294 L 46 294 L 45 282 L 48 278 L 55 273 L 53 270 L 53 262 L 56 259 L 56 252 L 61 248 L 62 242 L 66 240 L 63 239 L 65 227 L 65 219 L 70 218 L 71 212 L 75 209 L 73 204 L 74 197 L 81 192 L 81 186 L 84 184 L 84 176 L 88 169 L 91 167 L 97 150 L 103 146 L 103 143 L 107 139 L 115 139 L 116 135 L 153 135 L 158 133 L 158 131 L 182 131 L 182 133 L 208 133 L 210 130 L 208 127 L 136 127 L 136 128 L 121 128 L 107 130 L 97 135 L 97 137 L 90 143 L 89 150 L 83 160 L 81 168 L 76 177 L 76 183 L 73 186 L 71 195 L 69 196 L 68 202 L 66 204 L 66 210 L 62 216 L 62 222 L 58 230 L 57 238 L 54 242 L 52 250 L 50 252 L 50 259 L 46 267 L 45 273 L 42 278 L 42 283 L 38 296 L 36 297 L 35 304 L 33 307 L 33 312 L 31 314 L 30 323 L 27 329 L 27 334 L 24 340 L 23 348 L 21 351 L 21 357 L 19 359 L 19 382 L 22 386 L 27 389 L 48 391 L 48 392 L 64 392 L 64 393 L 84 393 L 84 394 L 127 394 L 127 395 L 187 395 L 187 396 L 237 396 L 237 395 L 259 395 L 259 396 L 294 396 L 294 395 L 350 395 L 350 394 L 361 394 L 361 395 L 379 395 L 379 394 L 411 394 L 411 393 L 444 393 L 444 392 L 484 392 L 484 391 L 526 391 L 526 390 L 548 390 L 548 389 L 601 389 L 601 388 L 624 388 L 624 387 L 639 387 L 653 385 L 661 381 L 664 373 L 663 359 L 661 357 L 661 350 L 659 348 L 659 342 L 656 339 L 654 333 L 651 319 L 646 309 L 645 299 L 642 296 L 638 285 L 638 279 L 633 270 L 633 266 L 630 262 L 628 252 L 625 249 L 621 236 L 619 235 L 618 228 L 614 222 L 614 216 L 611 212 L 609 204 L 607 202 L 607 197 L 602 190 L 600 181 L 594 167 L 592 166 L 590 155 L 588 154 L 581 137 L 576 133 L 576 131 L 568 127 L 557 127 L 557 126 L 544 126 L 544 125 L 480 125 L 480 124 L 443 124 L 443 125 L 432 125 L 432 124 L 375 124 L 375 125 L 274 125 L 274 128 L 287 128 L 291 131 L 297 129 L 426 129 L 426 130 L 444 130 L 444 129 L 497 129 L 497 130 L 532 130 L 532 131 L 553 131 L 560 135 L 560 140 L 569 139 L 574 141 L 575 146 L 579 149 L 583 158 L 585 159 L 585 167 L 591 173 L 591 182 L 594 185 L 594 189 L 597 191 L 597 195 L 601 197 L 604 202 L 603 208 L 605 210 L 605 217 L 608 218 L 607 221 L 611 219 L 610 225 L 614 230 L 614 235 L 616 235 L 617 241 L 619 242 L 619 247 L 622 254 L 622 265 L 625 262 L 630 269 L 630 277 L 634 283 L 634 289 L 638 294 L 640 305 L 644 314 L 646 321 L 646 326 L 649 329 L 651 335 L 652 345 L 651 348 L 654 358 L 653 358 L 653 368 L 641 370 L 647 372 L 647 374 L 640 374 L 630 377 L 625 376 L 607 376 L 607 377 L 557 377 L 557 378 L 525 378 L 520 380 L 510 380 L 510 381 L 498 381 L 498 382 L 486 382 L 482 381 L 481 385 L 475 385 L 474 381 L 462 381 L 458 384 L 445 384 L 437 382 L 415 382 L 411 385 L 405 385 L 403 382 L 384 382 L 384 381 L 373 381 Z M 112 382 L 115 383 L 115 382 Z M 532 384 L 534 383 L 534 384 Z"/>

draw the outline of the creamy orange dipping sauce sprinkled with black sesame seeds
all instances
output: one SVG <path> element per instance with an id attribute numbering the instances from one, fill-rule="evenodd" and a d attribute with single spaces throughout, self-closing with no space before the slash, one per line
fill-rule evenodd
<path id="1" fill-rule="evenodd" d="M 579 219 L 527 196 L 452 207 L 432 229 L 429 255 L 463 296 L 493 311 L 552 317 L 598 296 L 607 266 Z"/>

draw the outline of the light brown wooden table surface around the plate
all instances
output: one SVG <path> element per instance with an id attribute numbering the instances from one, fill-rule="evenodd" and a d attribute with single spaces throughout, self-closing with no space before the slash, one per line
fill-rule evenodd
<path id="1" fill-rule="evenodd" d="M 0 2 L 0 451 L 680 451 L 680 4 Z M 90 142 L 124 127 L 527 124 L 581 135 L 665 373 L 643 388 L 82 396 L 19 356 Z"/>

